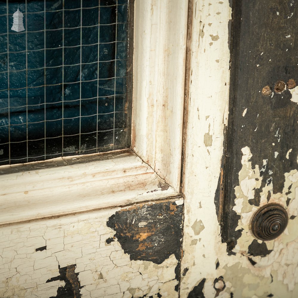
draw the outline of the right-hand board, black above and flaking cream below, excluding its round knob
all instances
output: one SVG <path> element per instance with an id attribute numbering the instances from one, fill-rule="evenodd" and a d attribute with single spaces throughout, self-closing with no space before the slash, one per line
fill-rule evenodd
<path id="1" fill-rule="evenodd" d="M 239 274 L 236 279 L 229 265 L 224 265 L 227 291 L 236 297 L 297 297 L 298 293 L 297 48 L 292 39 L 297 26 L 293 14 L 297 15 L 296 1 L 247 1 L 234 7 L 232 121 L 225 154 L 222 240 Z M 257 42 L 252 42 L 252 36 Z M 278 238 L 258 240 L 251 232 L 253 216 L 271 203 L 286 210 L 288 225 Z M 244 282 L 242 289 L 239 280 Z"/>

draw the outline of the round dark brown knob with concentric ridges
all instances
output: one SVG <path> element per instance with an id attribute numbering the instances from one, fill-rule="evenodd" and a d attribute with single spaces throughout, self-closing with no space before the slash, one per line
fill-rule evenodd
<path id="1" fill-rule="evenodd" d="M 288 224 L 288 213 L 278 204 L 261 207 L 252 218 L 252 232 L 260 240 L 268 241 L 283 233 Z"/>

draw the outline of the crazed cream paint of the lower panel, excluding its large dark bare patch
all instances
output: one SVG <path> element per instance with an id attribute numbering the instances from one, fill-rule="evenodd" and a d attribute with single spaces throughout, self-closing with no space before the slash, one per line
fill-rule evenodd
<path id="1" fill-rule="evenodd" d="M 182 201 L 159 204 L 179 207 Z M 106 223 L 120 210 L 1 227 L 0 297 L 178 297 L 175 253 L 159 263 L 131 260 L 113 239 Z M 141 219 L 136 213 L 142 226 Z"/>

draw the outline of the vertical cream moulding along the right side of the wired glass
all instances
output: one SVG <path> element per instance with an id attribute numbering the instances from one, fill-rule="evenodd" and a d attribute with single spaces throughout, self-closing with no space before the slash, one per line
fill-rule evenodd
<path id="1" fill-rule="evenodd" d="M 179 190 L 188 1 L 135 1 L 134 6 L 131 148 Z"/>

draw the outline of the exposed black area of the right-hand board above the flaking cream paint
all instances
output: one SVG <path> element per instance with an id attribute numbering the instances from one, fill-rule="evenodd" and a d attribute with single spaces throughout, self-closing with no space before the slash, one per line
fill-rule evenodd
<path id="1" fill-rule="evenodd" d="M 272 179 L 273 193 L 281 192 L 284 173 L 297 169 L 298 105 L 291 101 L 288 89 L 293 87 L 293 81 L 283 92 L 277 93 L 281 91 L 282 82 L 298 80 L 297 10 L 297 2 L 293 0 L 236 0 L 233 3 L 229 121 L 221 216 L 222 240 L 228 244 L 229 251 L 235 247 L 242 232 L 237 230 L 239 215 L 232 210 L 234 187 L 239 185 L 241 149 L 250 148 L 253 168 L 256 164 L 261 168 L 263 159 L 268 159 L 262 172 L 262 185 L 249 204 L 260 205 L 260 192 L 268 179 L 269 182 Z M 272 93 L 268 96 L 268 86 L 273 96 Z M 245 108 L 247 112 L 243 117 Z M 292 152 L 286 159 L 290 148 Z M 280 153 L 276 158 L 274 151 Z"/>

